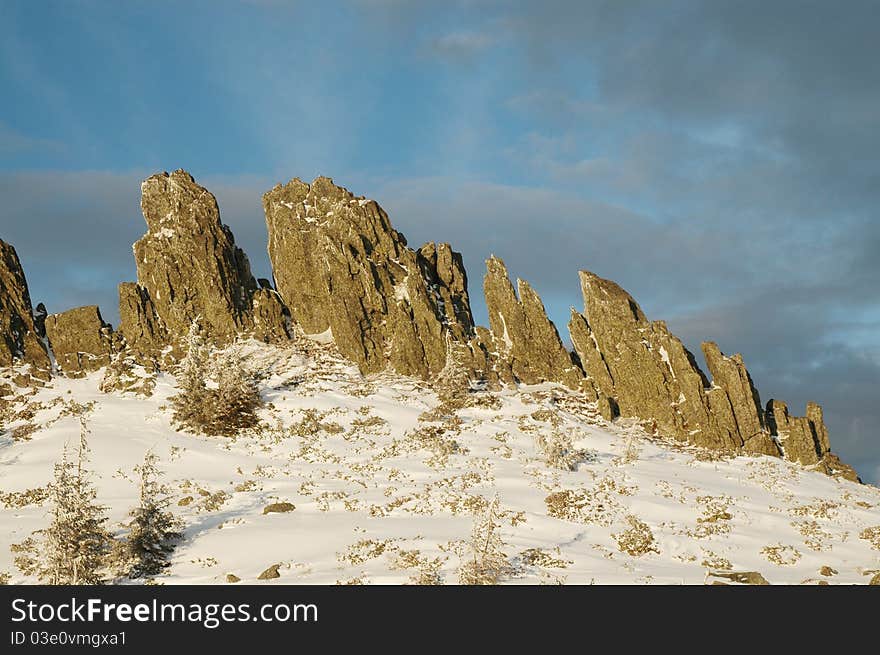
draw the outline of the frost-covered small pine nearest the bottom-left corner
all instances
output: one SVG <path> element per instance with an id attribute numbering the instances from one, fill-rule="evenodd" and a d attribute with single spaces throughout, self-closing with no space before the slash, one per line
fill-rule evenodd
<path id="1" fill-rule="evenodd" d="M 25 574 L 51 585 L 88 585 L 104 582 L 105 558 L 112 537 L 107 531 L 107 508 L 96 502 L 97 491 L 85 465 L 88 428 L 80 416 L 80 441 L 75 462 L 67 448 L 49 485 L 51 523 L 35 532 L 16 550 L 16 564 Z"/>

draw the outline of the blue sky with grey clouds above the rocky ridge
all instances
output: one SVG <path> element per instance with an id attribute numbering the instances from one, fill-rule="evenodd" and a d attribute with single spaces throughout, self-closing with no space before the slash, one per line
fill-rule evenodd
<path id="1" fill-rule="evenodd" d="M 557 324 L 577 270 L 880 481 L 876 2 L 0 3 L 0 238 L 50 311 L 135 277 L 139 183 L 186 168 L 268 276 L 260 195 L 329 175 L 494 253 Z"/>

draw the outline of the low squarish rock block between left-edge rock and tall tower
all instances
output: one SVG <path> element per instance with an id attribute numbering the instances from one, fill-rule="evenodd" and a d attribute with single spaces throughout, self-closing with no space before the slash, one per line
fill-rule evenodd
<path id="1" fill-rule="evenodd" d="M 113 328 L 96 305 L 46 317 L 46 337 L 58 368 L 71 377 L 107 366 L 119 349 Z"/>

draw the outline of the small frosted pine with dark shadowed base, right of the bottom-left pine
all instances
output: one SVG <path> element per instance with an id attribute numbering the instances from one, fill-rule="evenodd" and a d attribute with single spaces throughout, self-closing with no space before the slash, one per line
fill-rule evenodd
<path id="1" fill-rule="evenodd" d="M 162 472 L 158 461 L 156 454 L 148 451 L 143 464 L 135 467 L 140 475 L 140 504 L 129 513 L 128 537 L 119 542 L 115 554 L 121 574 L 130 578 L 161 573 L 181 536 L 181 522 L 167 511 L 171 496 L 159 482 Z"/>

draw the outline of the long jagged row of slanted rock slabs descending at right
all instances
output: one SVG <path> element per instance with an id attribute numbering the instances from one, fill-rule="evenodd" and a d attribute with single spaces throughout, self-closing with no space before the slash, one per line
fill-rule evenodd
<path id="1" fill-rule="evenodd" d="M 829 475 L 858 480 L 830 452 L 822 408 L 805 417 L 785 403 L 766 410 L 741 355 L 702 344 L 711 384 L 694 356 L 663 321 L 649 321 L 638 303 L 610 280 L 581 271 L 584 314 L 572 310 L 569 330 L 586 381 L 606 418 L 619 413 L 649 422 L 658 433 L 699 446 L 780 454 Z"/>

